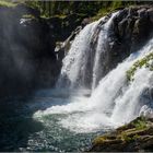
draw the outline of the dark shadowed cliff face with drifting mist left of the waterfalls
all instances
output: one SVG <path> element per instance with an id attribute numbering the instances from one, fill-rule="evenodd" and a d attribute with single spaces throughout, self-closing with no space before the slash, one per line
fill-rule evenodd
<path id="1" fill-rule="evenodd" d="M 23 4 L 0 7 L 2 96 L 52 86 L 61 67 L 55 54 L 56 42 L 66 39 L 83 17 L 72 14 L 64 19 L 42 19 L 39 15 Z"/>

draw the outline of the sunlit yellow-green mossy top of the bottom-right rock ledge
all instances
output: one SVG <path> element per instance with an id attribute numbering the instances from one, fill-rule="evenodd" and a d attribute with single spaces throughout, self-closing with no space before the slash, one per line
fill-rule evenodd
<path id="1" fill-rule="evenodd" d="M 144 117 L 138 117 L 130 123 L 118 128 L 115 132 L 97 137 L 93 144 L 99 149 L 101 146 L 111 148 L 114 144 L 118 148 L 122 144 L 129 145 L 141 140 L 142 136 L 148 134 L 151 129 L 152 122 L 150 120 Z"/>

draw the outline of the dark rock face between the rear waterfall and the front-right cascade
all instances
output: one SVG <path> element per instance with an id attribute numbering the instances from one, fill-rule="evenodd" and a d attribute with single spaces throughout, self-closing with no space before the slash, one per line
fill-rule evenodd
<path id="1" fill-rule="evenodd" d="M 114 19 L 114 39 L 111 47 L 108 45 L 109 54 L 105 60 L 108 69 L 105 74 L 152 37 L 151 10 L 152 7 L 126 8 Z"/>

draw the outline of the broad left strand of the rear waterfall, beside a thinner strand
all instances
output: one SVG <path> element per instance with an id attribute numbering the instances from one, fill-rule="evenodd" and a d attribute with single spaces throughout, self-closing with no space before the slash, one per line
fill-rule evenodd
<path id="1" fill-rule="evenodd" d="M 75 37 L 68 55 L 63 59 L 61 74 L 57 86 L 80 86 L 85 78 L 85 68 L 90 56 L 91 37 L 94 34 L 98 22 L 94 22 L 84 27 Z"/>

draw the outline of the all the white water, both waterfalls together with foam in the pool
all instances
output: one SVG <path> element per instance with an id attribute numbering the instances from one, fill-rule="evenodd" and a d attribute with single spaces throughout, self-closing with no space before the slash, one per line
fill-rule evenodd
<path id="1" fill-rule="evenodd" d="M 56 114 L 63 128 L 93 132 L 119 127 L 142 111 L 151 110 L 153 71 L 138 69 L 132 81 L 127 79 L 127 71 L 136 61 L 152 52 L 153 39 L 103 75 L 102 60 L 108 51 L 109 37 L 114 35 L 111 28 L 116 15 L 113 13 L 108 20 L 103 17 L 86 25 L 74 38 L 63 59 L 56 89 L 64 93 L 68 91 L 69 96 L 60 98 L 60 105 L 36 111 L 35 117 Z M 84 94 L 84 91 L 90 91 L 90 94 Z M 62 104 L 66 98 L 68 103 Z"/>

